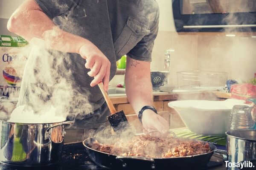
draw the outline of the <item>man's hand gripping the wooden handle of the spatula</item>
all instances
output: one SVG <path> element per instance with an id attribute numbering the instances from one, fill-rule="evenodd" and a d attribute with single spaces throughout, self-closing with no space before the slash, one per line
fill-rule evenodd
<path id="1" fill-rule="evenodd" d="M 105 91 L 108 91 L 110 76 L 110 61 L 93 43 L 82 45 L 79 54 L 86 59 L 85 68 L 90 69 L 88 75 L 94 77 L 90 86 L 95 86 L 103 82 Z"/>

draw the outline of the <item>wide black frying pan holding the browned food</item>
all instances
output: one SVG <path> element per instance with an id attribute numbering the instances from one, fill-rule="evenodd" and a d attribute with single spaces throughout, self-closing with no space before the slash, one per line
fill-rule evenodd
<path id="1" fill-rule="evenodd" d="M 83 141 L 84 147 L 90 157 L 90 159 L 99 167 L 107 169 L 183 169 L 186 170 L 200 170 L 207 167 L 212 154 L 216 150 L 214 144 L 210 144 L 211 151 L 209 153 L 194 155 L 194 156 L 184 156 L 184 157 L 173 157 L 173 158 L 145 158 L 139 156 L 116 156 L 108 153 L 104 153 L 98 150 L 90 148 L 90 144 L 96 140 L 99 143 L 108 143 L 113 141 L 113 137 L 119 137 L 118 135 L 105 135 L 90 137 Z"/>

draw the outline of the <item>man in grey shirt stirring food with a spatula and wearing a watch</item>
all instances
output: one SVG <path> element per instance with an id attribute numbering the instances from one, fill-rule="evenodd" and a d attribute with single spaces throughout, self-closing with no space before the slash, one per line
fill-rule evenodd
<path id="1" fill-rule="evenodd" d="M 97 84 L 102 81 L 107 91 L 116 61 L 127 54 L 126 94 L 134 111 L 141 111 L 145 130 L 153 134 L 166 133 L 169 128 L 151 107 L 150 62 L 158 21 L 155 0 L 26 0 L 12 14 L 7 28 L 27 41 L 43 40 L 53 57 L 58 54 L 55 51 L 69 57 L 63 64 L 71 70 L 73 88 L 84 96 L 90 91 L 93 106 L 92 113 L 76 121 L 77 128 L 109 125 L 106 116 L 110 113 Z M 29 81 L 34 72 L 24 71 L 19 105 L 28 104 L 28 96 L 36 95 Z M 47 82 L 41 86 L 42 91 L 49 91 Z"/>

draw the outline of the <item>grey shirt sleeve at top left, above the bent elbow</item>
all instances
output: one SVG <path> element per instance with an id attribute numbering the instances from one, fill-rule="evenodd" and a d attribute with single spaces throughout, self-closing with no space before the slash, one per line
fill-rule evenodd
<path id="1" fill-rule="evenodd" d="M 67 13 L 78 1 L 79 0 L 35 0 L 50 19 Z"/>

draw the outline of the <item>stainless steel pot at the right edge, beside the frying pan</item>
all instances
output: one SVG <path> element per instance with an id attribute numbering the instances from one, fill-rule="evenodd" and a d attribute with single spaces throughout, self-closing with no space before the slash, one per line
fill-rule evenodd
<path id="1" fill-rule="evenodd" d="M 230 130 L 227 134 L 227 161 L 226 165 L 249 161 L 256 167 L 256 130 Z M 241 168 L 241 167 L 240 167 Z M 227 166 L 227 170 L 240 170 L 239 167 Z M 250 167 L 247 167 L 250 168 Z M 244 168 L 246 169 L 246 168 Z"/>

